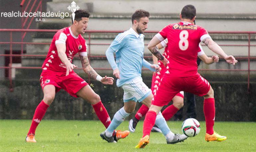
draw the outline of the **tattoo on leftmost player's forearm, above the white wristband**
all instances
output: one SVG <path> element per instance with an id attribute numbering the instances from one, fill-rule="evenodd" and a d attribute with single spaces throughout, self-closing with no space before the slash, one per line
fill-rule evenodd
<path id="1" fill-rule="evenodd" d="M 89 59 L 87 56 L 79 55 L 83 71 L 91 78 L 96 79 L 98 73 L 90 66 Z"/>

